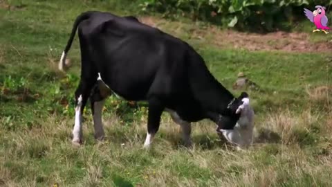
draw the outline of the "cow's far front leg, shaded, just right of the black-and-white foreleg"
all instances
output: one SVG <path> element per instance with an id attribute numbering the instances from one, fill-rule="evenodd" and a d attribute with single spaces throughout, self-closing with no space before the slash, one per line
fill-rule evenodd
<path id="1" fill-rule="evenodd" d="M 169 112 L 169 114 L 172 117 L 172 120 L 181 126 L 181 130 L 182 130 L 182 139 L 185 143 L 186 147 L 191 147 L 192 146 L 192 140 L 190 139 L 190 134 L 192 133 L 192 125 L 187 122 L 187 121 L 183 121 L 180 116 L 178 116 L 178 114 L 172 110 L 167 110 L 167 112 Z"/>

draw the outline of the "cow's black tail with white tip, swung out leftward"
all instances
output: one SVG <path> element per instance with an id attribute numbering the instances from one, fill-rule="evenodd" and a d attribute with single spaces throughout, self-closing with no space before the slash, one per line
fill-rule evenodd
<path id="1" fill-rule="evenodd" d="M 66 48 L 64 48 L 64 51 L 62 52 L 62 55 L 61 55 L 61 59 L 59 61 L 58 68 L 60 71 L 64 71 L 64 68 L 66 66 L 66 56 L 67 56 L 69 49 L 71 48 L 71 44 L 73 43 L 73 39 L 75 37 L 75 33 L 76 33 L 78 25 L 85 19 L 89 19 L 91 13 L 92 12 L 83 12 L 81 15 L 79 15 L 76 18 L 76 20 L 73 24 L 73 29 L 71 30 L 71 37 L 69 37 Z"/>

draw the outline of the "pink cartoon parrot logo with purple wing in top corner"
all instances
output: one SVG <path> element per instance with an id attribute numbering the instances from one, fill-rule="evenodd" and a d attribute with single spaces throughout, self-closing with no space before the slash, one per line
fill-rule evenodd
<path id="1" fill-rule="evenodd" d="M 304 8 L 304 15 L 315 24 L 317 29 L 314 29 L 313 33 L 322 30 L 327 35 L 329 32 L 326 30 L 331 30 L 331 28 L 327 26 L 326 8 L 324 6 L 315 6 L 315 8 L 316 10 L 313 12 Z"/>

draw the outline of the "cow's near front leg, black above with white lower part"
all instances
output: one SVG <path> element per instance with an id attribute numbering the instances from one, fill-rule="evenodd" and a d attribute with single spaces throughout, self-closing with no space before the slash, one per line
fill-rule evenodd
<path id="1" fill-rule="evenodd" d="M 144 147 L 149 148 L 152 139 L 156 132 L 158 132 L 160 125 L 160 116 L 163 113 L 164 107 L 158 99 L 149 100 L 149 112 L 147 117 L 147 138 L 145 139 Z"/>

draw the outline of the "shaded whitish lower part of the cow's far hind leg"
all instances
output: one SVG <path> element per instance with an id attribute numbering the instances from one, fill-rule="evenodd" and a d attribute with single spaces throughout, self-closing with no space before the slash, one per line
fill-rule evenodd
<path id="1" fill-rule="evenodd" d="M 105 100 L 100 100 L 93 104 L 93 126 L 95 128 L 95 139 L 104 139 L 104 129 L 102 127 L 102 107 L 104 107 Z"/>

